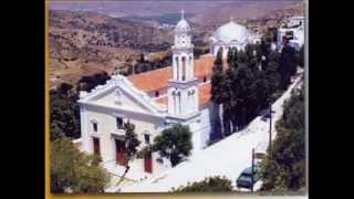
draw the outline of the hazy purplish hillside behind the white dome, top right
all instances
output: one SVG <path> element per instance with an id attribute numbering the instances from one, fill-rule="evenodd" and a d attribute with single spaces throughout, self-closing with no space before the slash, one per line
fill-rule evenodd
<path id="1" fill-rule="evenodd" d="M 191 20 L 200 28 L 211 31 L 228 22 L 231 18 L 252 30 L 263 32 L 267 28 L 278 27 L 287 17 L 303 15 L 304 6 L 304 0 L 256 0 L 249 3 L 246 1 L 226 1 L 202 10 Z"/>

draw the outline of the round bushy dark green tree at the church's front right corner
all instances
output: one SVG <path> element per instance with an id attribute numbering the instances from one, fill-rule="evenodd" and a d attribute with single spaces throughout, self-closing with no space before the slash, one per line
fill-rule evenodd
<path id="1" fill-rule="evenodd" d="M 189 156 L 192 149 L 189 127 L 181 124 L 164 129 L 160 135 L 155 137 L 154 143 L 154 151 L 168 158 L 173 167 Z"/>

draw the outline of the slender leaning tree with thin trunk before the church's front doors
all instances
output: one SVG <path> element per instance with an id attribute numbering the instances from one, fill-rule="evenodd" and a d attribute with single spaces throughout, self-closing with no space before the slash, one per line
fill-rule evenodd
<path id="1" fill-rule="evenodd" d="M 140 142 L 137 139 L 137 135 L 135 134 L 135 125 L 127 122 L 124 123 L 123 128 L 125 129 L 124 136 L 124 160 L 125 160 L 125 171 L 121 177 L 121 180 L 116 186 L 119 186 L 124 180 L 126 174 L 129 171 L 129 161 L 137 155 L 137 147 L 140 145 Z"/>

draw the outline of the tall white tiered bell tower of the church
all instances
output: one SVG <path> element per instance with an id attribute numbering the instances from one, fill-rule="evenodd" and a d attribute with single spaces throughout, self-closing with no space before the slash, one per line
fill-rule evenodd
<path id="1" fill-rule="evenodd" d="M 168 115 L 189 118 L 199 111 L 198 81 L 195 78 L 194 44 L 191 28 L 185 20 L 185 12 L 175 29 L 173 50 L 173 80 L 168 85 Z"/>

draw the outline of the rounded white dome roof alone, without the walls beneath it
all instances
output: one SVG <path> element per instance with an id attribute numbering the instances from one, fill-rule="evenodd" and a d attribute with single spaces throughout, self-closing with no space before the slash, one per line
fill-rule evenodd
<path id="1" fill-rule="evenodd" d="M 230 43 L 232 41 L 246 42 L 249 35 L 250 32 L 246 27 L 230 21 L 229 23 L 219 27 L 212 34 L 211 40 L 222 41 L 225 43 Z"/>

